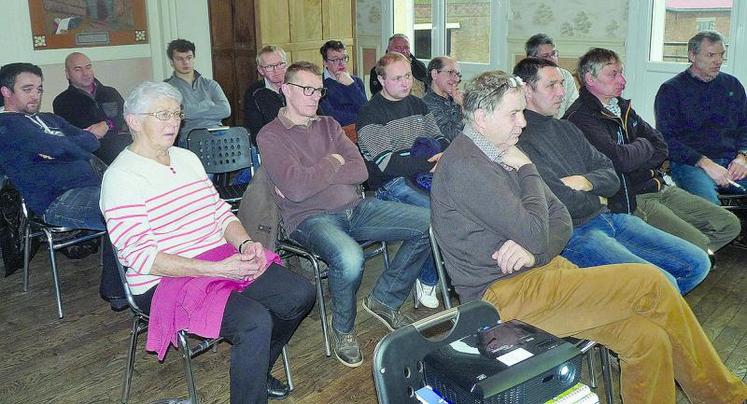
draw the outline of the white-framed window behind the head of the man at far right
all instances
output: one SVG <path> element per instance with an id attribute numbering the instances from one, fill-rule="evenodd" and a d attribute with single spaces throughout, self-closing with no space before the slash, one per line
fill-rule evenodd
<path id="1" fill-rule="evenodd" d="M 731 32 L 733 0 L 656 0 L 651 32 L 651 61 L 688 63 L 687 41 L 703 30 Z"/>

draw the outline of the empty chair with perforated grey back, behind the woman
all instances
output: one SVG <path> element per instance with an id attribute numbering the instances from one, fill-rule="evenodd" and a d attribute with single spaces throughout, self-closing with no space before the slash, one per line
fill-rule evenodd
<path id="1" fill-rule="evenodd" d="M 187 135 L 187 148 L 202 161 L 205 171 L 212 174 L 221 199 L 236 205 L 244 195 L 247 183 L 231 185 L 232 174 L 248 169 L 254 175 L 254 159 L 258 156 L 249 133 L 241 126 L 193 129 Z"/>

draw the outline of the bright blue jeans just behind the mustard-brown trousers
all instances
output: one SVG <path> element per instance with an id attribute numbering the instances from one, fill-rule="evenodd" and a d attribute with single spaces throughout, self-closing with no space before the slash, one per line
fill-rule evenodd
<path id="1" fill-rule="evenodd" d="M 602 213 L 576 227 L 561 254 L 581 268 L 608 264 L 653 264 L 683 295 L 708 275 L 708 254 L 695 244 L 625 213 Z"/>

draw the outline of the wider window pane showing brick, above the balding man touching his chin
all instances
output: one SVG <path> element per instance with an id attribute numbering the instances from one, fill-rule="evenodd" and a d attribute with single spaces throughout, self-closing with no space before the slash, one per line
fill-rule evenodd
<path id="1" fill-rule="evenodd" d="M 460 62 L 490 63 L 491 0 L 446 1 L 446 53 Z"/>

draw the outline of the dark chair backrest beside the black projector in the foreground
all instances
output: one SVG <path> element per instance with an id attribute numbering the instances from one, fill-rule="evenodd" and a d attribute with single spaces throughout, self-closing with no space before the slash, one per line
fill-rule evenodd
<path id="1" fill-rule="evenodd" d="M 414 392 L 425 385 L 423 358 L 480 328 L 500 321 L 498 311 L 481 300 L 436 313 L 395 330 L 379 341 L 374 350 L 373 376 L 379 403 L 417 403 Z M 423 333 L 453 326 L 438 339 Z"/>

